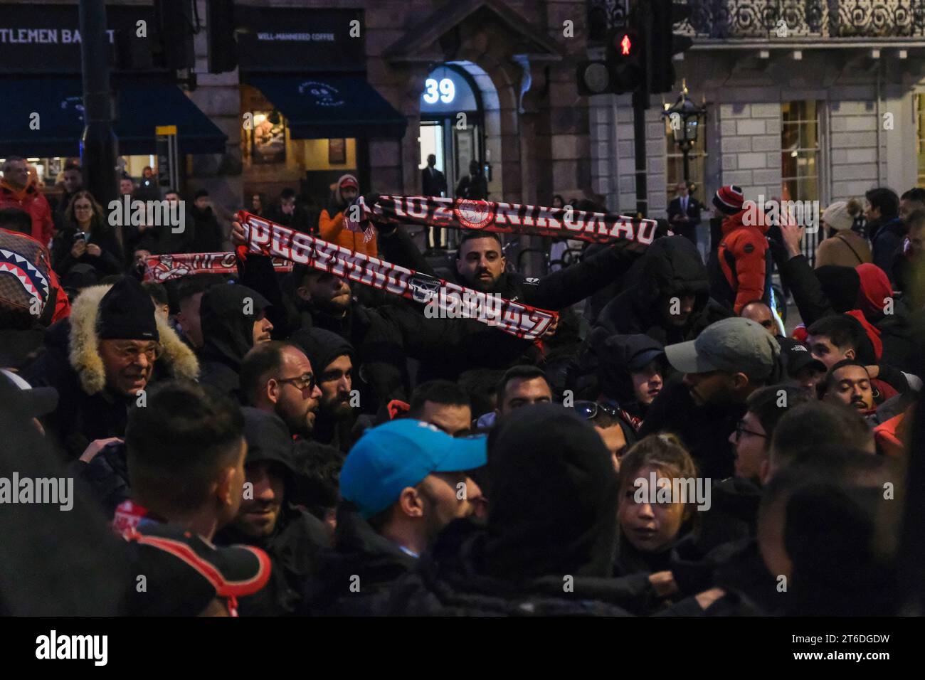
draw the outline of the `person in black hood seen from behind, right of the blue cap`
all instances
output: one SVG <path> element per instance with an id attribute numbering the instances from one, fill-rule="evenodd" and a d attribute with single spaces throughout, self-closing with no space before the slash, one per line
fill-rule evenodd
<path id="1" fill-rule="evenodd" d="M 617 476 L 593 427 L 539 404 L 493 430 L 488 451 L 487 526 L 448 525 L 392 587 L 388 613 L 619 616 L 660 597 L 649 575 L 611 578 Z M 707 591 L 667 612 L 697 614 L 720 596 Z"/>

